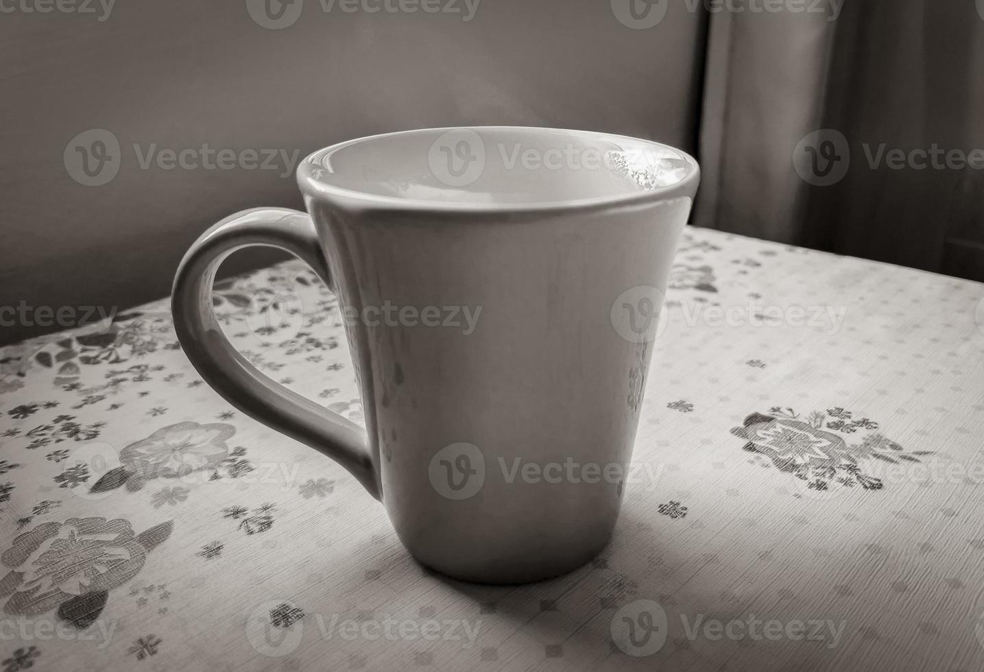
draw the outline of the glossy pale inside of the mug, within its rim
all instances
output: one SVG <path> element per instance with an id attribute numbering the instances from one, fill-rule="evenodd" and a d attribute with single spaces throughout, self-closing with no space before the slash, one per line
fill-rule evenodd
<path id="1" fill-rule="evenodd" d="M 302 189 L 393 207 L 463 209 L 632 201 L 690 182 L 697 162 L 666 145 L 550 128 L 423 129 L 361 138 L 308 156 Z"/>

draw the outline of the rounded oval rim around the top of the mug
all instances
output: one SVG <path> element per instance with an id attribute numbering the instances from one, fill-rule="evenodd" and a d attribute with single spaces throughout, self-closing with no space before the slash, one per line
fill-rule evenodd
<path id="1" fill-rule="evenodd" d="M 482 131 L 558 132 L 577 134 L 590 137 L 595 140 L 607 139 L 612 141 L 642 143 L 653 148 L 664 151 L 668 150 L 670 152 L 680 154 L 680 156 L 688 163 L 688 171 L 682 179 L 671 185 L 653 187 L 652 189 L 648 189 L 646 191 L 626 191 L 620 194 L 584 199 L 566 199 L 562 201 L 549 201 L 543 203 L 479 203 L 406 199 L 397 196 L 384 196 L 380 194 L 371 194 L 364 191 L 344 189 L 313 174 L 314 170 L 324 169 L 321 159 L 326 155 L 338 152 L 338 150 L 350 147 L 352 145 L 371 140 L 381 140 L 389 137 L 427 133 L 433 134 L 437 132 L 448 133 L 450 131 L 457 130 L 473 131 L 475 133 L 481 133 Z M 700 182 L 701 166 L 697 159 L 695 159 L 691 154 L 686 153 L 683 150 L 679 150 L 671 145 L 615 133 L 564 129 L 549 126 L 446 126 L 378 133 L 371 136 L 363 136 L 352 140 L 346 140 L 341 143 L 322 148 L 305 156 L 304 160 L 302 160 L 300 165 L 297 166 L 296 177 L 298 186 L 305 197 L 322 197 L 329 199 L 332 202 L 337 202 L 340 205 L 358 210 L 386 210 L 433 214 L 537 214 L 638 207 L 670 201 L 681 197 L 693 199 L 697 191 L 697 186 Z"/>

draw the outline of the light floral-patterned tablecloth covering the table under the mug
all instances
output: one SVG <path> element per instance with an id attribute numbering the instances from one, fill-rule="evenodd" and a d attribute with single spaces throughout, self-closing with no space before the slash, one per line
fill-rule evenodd
<path id="1" fill-rule="evenodd" d="M 984 669 L 984 286 L 693 228 L 670 284 L 612 542 L 524 586 L 423 570 L 164 300 L 3 348 L 3 669 Z M 307 268 L 215 306 L 361 421 Z"/>

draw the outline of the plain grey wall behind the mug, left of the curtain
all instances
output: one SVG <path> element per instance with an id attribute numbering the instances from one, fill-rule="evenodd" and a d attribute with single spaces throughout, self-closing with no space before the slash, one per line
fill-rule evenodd
<path id="1" fill-rule="evenodd" d="M 120 2 L 102 22 L 0 16 L 0 306 L 136 305 L 168 293 L 184 250 L 216 219 L 301 206 L 283 162 L 142 168 L 154 144 L 303 157 L 400 129 L 526 124 L 695 149 L 700 14 L 674 10 L 655 28 L 630 30 L 607 1 L 484 0 L 468 22 L 301 7 L 277 31 L 257 25 L 242 0 Z M 77 183 L 64 162 L 89 129 L 110 131 L 121 147 L 119 171 L 102 186 Z M 226 268 L 265 261 L 244 255 Z M 3 327 L 0 343 L 44 331 Z"/>

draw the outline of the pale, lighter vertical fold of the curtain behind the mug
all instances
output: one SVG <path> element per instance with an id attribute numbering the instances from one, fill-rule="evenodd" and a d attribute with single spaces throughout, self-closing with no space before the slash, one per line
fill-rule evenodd
<path id="1" fill-rule="evenodd" d="M 791 157 L 819 128 L 835 26 L 806 14 L 710 16 L 696 223 L 795 241 L 805 185 Z"/>

